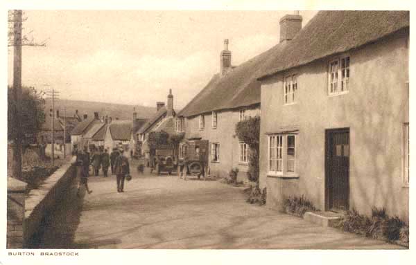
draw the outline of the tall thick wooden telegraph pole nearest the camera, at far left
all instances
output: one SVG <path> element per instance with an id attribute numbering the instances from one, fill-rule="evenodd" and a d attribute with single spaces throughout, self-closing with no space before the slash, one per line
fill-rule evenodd
<path id="1" fill-rule="evenodd" d="M 13 113 L 14 150 L 12 172 L 15 178 L 21 177 L 21 126 L 20 126 L 20 100 L 21 100 L 21 10 L 15 10 L 13 14 L 13 97 L 15 104 Z"/>

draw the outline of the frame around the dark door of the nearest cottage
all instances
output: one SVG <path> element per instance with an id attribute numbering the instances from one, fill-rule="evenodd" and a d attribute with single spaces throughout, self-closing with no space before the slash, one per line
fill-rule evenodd
<path id="1" fill-rule="evenodd" d="M 325 178 L 324 178 L 324 187 L 325 187 L 325 210 L 329 210 L 329 136 L 333 133 L 348 133 L 348 145 L 349 145 L 349 156 L 348 156 L 348 208 L 349 208 L 349 172 L 350 172 L 350 157 L 351 157 L 351 135 L 349 127 L 336 128 L 336 129 L 325 129 L 325 154 L 324 154 L 324 167 L 325 167 Z"/>

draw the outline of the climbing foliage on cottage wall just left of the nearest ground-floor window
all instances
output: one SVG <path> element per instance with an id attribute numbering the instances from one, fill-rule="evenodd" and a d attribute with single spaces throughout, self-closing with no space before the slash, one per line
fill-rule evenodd
<path id="1" fill-rule="evenodd" d="M 259 183 L 260 117 L 255 116 L 236 124 L 236 136 L 250 147 L 248 156 L 248 179 Z"/>

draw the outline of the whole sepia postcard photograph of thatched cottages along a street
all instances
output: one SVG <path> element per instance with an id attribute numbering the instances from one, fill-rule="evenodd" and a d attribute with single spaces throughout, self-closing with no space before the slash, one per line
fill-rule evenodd
<path id="1" fill-rule="evenodd" d="M 3 10 L 3 254 L 408 253 L 410 10 L 306 7 Z"/>

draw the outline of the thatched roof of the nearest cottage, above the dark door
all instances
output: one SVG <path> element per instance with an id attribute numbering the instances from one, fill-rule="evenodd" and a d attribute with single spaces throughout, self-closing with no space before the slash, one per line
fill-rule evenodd
<path id="1" fill-rule="evenodd" d="M 376 42 L 409 27 L 408 11 L 320 11 L 286 45 L 270 54 L 259 79 Z"/>

